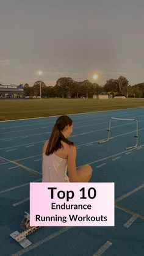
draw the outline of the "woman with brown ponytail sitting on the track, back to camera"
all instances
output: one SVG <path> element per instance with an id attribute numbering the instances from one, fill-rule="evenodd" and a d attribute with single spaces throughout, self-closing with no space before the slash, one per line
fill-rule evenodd
<path id="1" fill-rule="evenodd" d="M 73 131 L 73 121 L 60 116 L 49 141 L 43 147 L 42 182 L 88 182 L 92 167 L 85 165 L 76 170 L 76 147 L 68 140 Z M 68 176 L 67 176 L 68 167 Z"/>

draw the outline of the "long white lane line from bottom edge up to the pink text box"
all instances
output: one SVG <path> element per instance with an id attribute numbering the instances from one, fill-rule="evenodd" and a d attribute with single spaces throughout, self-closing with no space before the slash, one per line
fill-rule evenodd
<path id="1" fill-rule="evenodd" d="M 29 252 L 33 249 L 35 249 L 36 247 L 38 246 L 41 246 L 41 244 L 45 244 L 47 243 L 49 240 L 55 238 L 56 236 L 59 236 L 61 235 L 62 233 L 65 233 L 67 232 L 68 230 L 70 229 L 73 229 L 73 227 L 63 227 L 62 229 L 60 229 L 59 231 L 55 232 L 55 233 L 52 233 L 51 235 L 49 236 L 46 236 L 46 238 L 40 240 L 40 241 L 37 241 L 37 243 L 35 244 L 32 244 L 31 246 L 27 247 L 26 249 L 22 249 L 18 252 L 15 252 L 15 254 L 11 254 L 11 256 L 20 256 L 20 255 L 23 255 L 25 254 L 26 252 Z"/>

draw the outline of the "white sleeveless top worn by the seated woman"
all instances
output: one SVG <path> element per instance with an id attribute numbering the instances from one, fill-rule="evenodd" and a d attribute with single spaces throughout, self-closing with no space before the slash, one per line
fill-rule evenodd
<path id="1" fill-rule="evenodd" d="M 42 182 L 70 182 L 67 176 L 67 159 L 54 153 L 47 156 L 43 153 Z"/>

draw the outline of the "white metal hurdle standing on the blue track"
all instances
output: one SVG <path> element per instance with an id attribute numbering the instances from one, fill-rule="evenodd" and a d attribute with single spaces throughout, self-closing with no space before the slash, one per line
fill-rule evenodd
<path id="1" fill-rule="evenodd" d="M 134 136 L 134 137 L 136 138 L 136 143 L 135 143 L 134 146 L 126 147 L 126 149 L 137 147 L 137 145 L 138 145 L 138 121 L 137 121 L 137 119 L 121 119 L 121 118 L 117 118 L 117 117 L 110 117 L 109 128 L 108 128 L 108 130 L 107 130 L 107 131 L 108 131 L 107 139 L 102 139 L 101 141 L 98 141 L 98 143 L 101 144 L 101 143 L 104 143 L 104 142 L 109 141 L 109 139 L 110 139 L 110 129 L 111 129 L 112 120 L 134 121 L 134 122 L 136 122 L 136 135 Z"/>

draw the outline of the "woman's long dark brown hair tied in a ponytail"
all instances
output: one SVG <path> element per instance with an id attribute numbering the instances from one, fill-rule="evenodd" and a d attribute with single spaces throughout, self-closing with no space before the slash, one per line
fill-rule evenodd
<path id="1" fill-rule="evenodd" d="M 71 126 L 72 124 L 73 124 L 73 121 L 67 115 L 61 115 L 57 119 L 57 121 L 52 129 L 52 133 L 49 138 L 48 146 L 46 148 L 45 154 L 47 156 L 51 155 L 54 151 L 57 151 L 59 148 L 63 148 L 61 141 L 67 143 L 68 145 L 74 145 L 74 143 L 69 141 L 65 136 L 63 136 L 63 134 L 61 132 L 65 128 L 65 126 L 67 126 L 67 125 Z"/>

